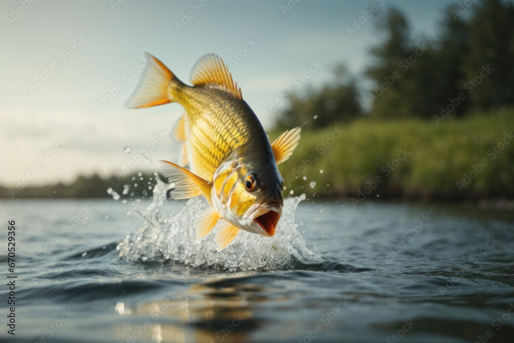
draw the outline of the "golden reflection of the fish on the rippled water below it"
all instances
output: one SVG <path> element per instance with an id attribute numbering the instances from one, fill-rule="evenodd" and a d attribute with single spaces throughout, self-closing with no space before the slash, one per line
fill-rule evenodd
<path id="1" fill-rule="evenodd" d="M 243 342 L 262 326 L 262 319 L 253 318 L 252 306 L 270 301 L 266 291 L 263 285 L 210 281 L 168 293 L 162 300 L 118 302 L 115 311 L 124 319 L 116 334 L 127 342 Z"/>

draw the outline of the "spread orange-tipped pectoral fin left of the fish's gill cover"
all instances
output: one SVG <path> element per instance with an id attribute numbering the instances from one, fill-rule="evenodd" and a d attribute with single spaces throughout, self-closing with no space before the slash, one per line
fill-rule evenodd
<path id="1" fill-rule="evenodd" d="M 169 161 L 159 162 L 164 162 L 162 174 L 175 184 L 175 188 L 171 191 L 172 198 L 188 199 L 193 196 L 205 195 L 207 201 L 211 202 L 212 183 Z"/>

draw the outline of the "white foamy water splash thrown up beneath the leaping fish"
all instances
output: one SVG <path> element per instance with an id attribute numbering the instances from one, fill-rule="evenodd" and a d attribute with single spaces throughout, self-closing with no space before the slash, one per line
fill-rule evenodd
<path id="1" fill-rule="evenodd" d="M 271 238 L 240 231 L 234 242 L 217 251 L 214 232 L 203 239 L 195 235 L 195 215 L 207 205 L 203 197 L 191 198 L 176 215 L 165 215 L 161 206 L 172 185 L 157 179 L 153 202 L 142 213 L 145 222 L 118 246 L 119 255 L 131 261 L 174 261 L 191 267 L 236 271 L 281 270 L 299 264 L 320 263 L 295 224 L 295 211 L 305 194 L 284 201 L 282 217 Z"/>

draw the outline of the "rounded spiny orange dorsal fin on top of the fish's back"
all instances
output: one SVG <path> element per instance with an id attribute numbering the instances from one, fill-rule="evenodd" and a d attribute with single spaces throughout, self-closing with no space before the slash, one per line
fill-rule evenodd
<path id="1" fill-rule="evenodd" d="M 218 84 L 225 87 L 235 97 L 243 99 L 241 88 L 237 87 L 237 83 L 232 80 L 227 65 L 214 53 L 208 53 L 196 61 L 191 70 L 191 83 L 195 86 Z"/>

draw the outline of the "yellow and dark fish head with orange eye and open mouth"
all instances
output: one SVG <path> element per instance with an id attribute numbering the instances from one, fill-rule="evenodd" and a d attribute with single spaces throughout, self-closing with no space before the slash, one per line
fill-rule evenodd
<path id="1" fill-rule="evenodd" d="M 212 203 L 223 218 L 245 231 L 275 234 L 284 205 L 284 179 L 274 161 L 229 161 L 217 169 L 213 183 Z"/>

